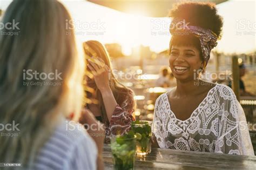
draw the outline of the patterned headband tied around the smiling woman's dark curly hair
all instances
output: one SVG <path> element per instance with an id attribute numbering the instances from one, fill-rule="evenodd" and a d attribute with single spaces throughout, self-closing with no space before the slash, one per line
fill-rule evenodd
<path id="1" fill-rule="evenodd" d="M 170 32 L 172 37 L 180 35 L 181 32 L 187 32 L 199 38 L 205 66 L 210 59 L 210 52 L 213 47 L 217 46 L 218 36 L 210 29 L 204 29 L 200 26 L 188 25 L 185 19 L 174 18 L 170 25 Z"/>

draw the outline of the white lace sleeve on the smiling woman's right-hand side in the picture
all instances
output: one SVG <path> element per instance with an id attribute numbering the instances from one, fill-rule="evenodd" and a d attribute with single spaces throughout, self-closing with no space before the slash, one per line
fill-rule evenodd
<path id="1" fill-rule="evenodd" d="M 223 86 L 219 94 L 219 135 L 214 152 L 254 155 L 245 113 L 232 89 Z"/>

